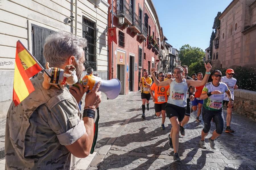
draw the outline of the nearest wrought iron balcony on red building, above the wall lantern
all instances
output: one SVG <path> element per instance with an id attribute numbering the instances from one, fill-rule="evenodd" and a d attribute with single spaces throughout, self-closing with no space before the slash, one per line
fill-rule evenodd
<path id="1" fill-rule="evenodd" d="M 119 0 L 116 8 L 117 18 L 124 17 L 124 24 L 133 24 L 133 8 L 125 0 Z"/>

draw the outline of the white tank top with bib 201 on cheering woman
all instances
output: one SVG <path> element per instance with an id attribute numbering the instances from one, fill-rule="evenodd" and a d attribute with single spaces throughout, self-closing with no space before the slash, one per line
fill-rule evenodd
<path id="1" fill-rule="evenodd" d="M 170 84 L 170 95 L 167 103 L 179 106 L 187 106 L 187 82 L 183 78 L 181 83 L 177 83 L 175 79 Z"/>

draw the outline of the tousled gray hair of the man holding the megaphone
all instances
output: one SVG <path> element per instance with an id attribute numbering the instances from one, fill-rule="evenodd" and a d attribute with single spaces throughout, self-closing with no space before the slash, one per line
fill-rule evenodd
<path id="1" fill-rule="evenodd" d="M 87 41 L 75 37 L 71 33 L 60 31 L 49 35 L 44 44 L 44 58 L 51 67 L 63 66 L 70 56 L 75 56 L 76 62 L 83 56 Z"/>

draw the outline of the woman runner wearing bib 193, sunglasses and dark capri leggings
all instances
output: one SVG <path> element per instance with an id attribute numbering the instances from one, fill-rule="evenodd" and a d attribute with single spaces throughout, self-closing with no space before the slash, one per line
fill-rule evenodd
<path id="1" fill-rule="evenodd" d="M 205 127 L 201 133 L 201 140 L 199 144 L 201 148 L 206 149 L 205 137 L 211 128 L 211 120 L 214 119 L 216 130 L 213 131 L 212 136 L 209 138 L 210 146 L 212 149 L 216 149 L 214 139 L 216 139 L 223 131 L 224 128 L 224 116 L 223 116 L 223 99 L 225 93 L 228 96 L 228 108 L 233 106 L 233 99 L 228 86 L 221 82 L 222 74 L 219 70 L 214 70 L 203 88 L 200 99 L 204 100 L 202 116 L 205 123 Z"/>

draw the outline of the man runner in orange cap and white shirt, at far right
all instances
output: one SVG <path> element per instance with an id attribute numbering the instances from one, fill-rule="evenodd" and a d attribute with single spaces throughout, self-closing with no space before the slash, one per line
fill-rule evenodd
<path id="1" fill-rule="evenodd" d="M 227 69 L 226 70 L 226 76 L 221 78 L 221 82 L 225 83 L 228 86 L 228 89 L 230 90 L 232 94 L 232 99 L 234 100 L 234 89 L 238 89 L 238 86 L 236 85 L 236 79 L 233 78 L 233 75 L 235 74 L 233 69 Z M 225 94 L 223 105 L 226 103 L 226 106 L 228 105 L 228 96 Z M 231 118 L 232 118 L 232 110 L 234 106 L 228 108 L 227 107 L 227 127 L 225 132 L 227 133 L 234 133 L 235 131 L 230 128 Z"/>

